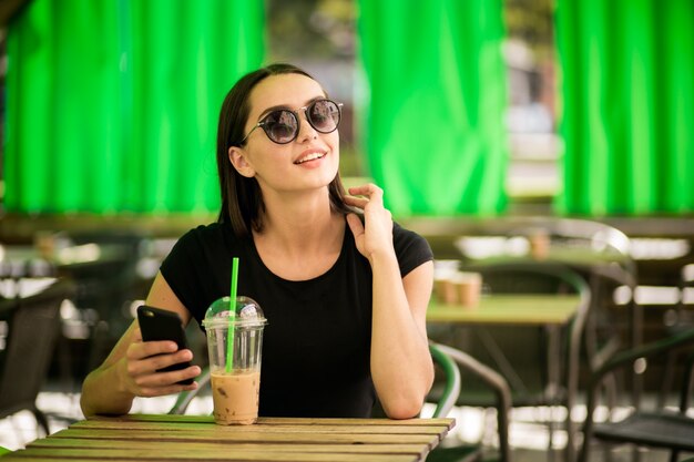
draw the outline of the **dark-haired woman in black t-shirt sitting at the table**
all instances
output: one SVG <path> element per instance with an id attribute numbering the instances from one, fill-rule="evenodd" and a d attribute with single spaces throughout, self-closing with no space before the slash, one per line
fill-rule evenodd
<path id="1" fill-rule="evenodd" d="M 368 417 L 378 397 L 388 417 L 411 418 L 433 379 L 425 326 L 431 250 L 394 225 L 378 187 L 345 193 L 339 116 L 320 84 L 293 65 L 242 78 L 220 116 L 218 222 L 178 240 L 146 304 L 200 322 L 228 295 L 238 257 L 238 294 L 269 321 L 261 415 Z M 84 414 L 127 413 L 135 397 L 195 389 L 176 382 L 200 374 L 196 366 L 155 372 L 192 359 L 175 349 L 143 342 L 133 322 L 84 380 Z"/>

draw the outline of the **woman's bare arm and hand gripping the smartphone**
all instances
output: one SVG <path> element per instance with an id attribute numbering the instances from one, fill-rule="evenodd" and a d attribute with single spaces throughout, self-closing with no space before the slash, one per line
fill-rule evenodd
<path id="1" fill-rule="evenodd" d="M 152 284 L 146 304 L 177 312 L 184 325 L 191 319 L 188 310 L 161 274 Z M 197 383 L 181 386 L 176 382 L 198 376 L 197 366 L 156 372 L 193 359 L 191 350 L 176 351 L 176 348 L 173 341 L 143 342 L 137 321 L 133 321 L 104 362 L 84 379 L 80 399 L 84 415 L 125 414 L 135 397 L 159 397 L 196 389 Z"/>

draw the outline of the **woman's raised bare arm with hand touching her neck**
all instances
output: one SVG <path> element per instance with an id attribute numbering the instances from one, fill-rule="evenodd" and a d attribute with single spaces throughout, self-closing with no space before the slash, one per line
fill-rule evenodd
<path id="1" fill-rule="evenodd" d="M 416 417 L 433 381 L 426 329 L 433 264 L 427 261 L 402 278 L 392 245 L 392 219 L 382 206 L 382 192 L 366 185 L 350 188 L 349 193 L 366 196 L 346 197 L 346 202 L 364 209 L 364 225 L 355 215 L 349 215 L 347 223 L 374 274 L 374 386 L 388 417 Z"/>

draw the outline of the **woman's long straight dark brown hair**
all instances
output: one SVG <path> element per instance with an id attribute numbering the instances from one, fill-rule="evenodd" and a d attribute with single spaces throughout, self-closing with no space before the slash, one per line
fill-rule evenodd
<path id="1" fill-rule="evenodd" d="M 242 76 L 229 90 L 220 111 L 217 130 L 217 171 L 220 174 L 220 193 L 222 207 L 218 223 L 228 223 L 238 237 L 248 236 L 251 229 L 263 229 L 262 216 L 265 211 L 263 194 L 257 179 L 247 178 L 236 172 L 228 160 L 228 148 L 239 146 L 244 137 L 244 127 L 251 112 L 248 96 L 251 91 L 271 75 L 300 74 L 315 80 L 306 71 L 285 63 L 271 64 Z M 345 187 L 339 173 L 328 185 L 330 207 L 340 213 L 349 213 L 345 204 Z"/>

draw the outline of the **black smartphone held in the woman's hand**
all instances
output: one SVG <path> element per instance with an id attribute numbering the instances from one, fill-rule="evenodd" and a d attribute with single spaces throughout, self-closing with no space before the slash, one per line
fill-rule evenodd
<path id="1" fill-rule="evenodd" d="M 142 340 L 157 341 L 172 340 L 178 346 L 178 350 L 187 348 L 185 341 L 185 331 L 183 322 L 178 314 L 167 311 L 161 308 L 154 308 L 146 305 L 137 307 L 137 322 L 142 331 Z M 172 370 L 181 370 L 191 366 L 190 361 L 171 365 L 166 368 L 159 369 L 157 372 L 169 372 Z M 193 379 L 182 380 L 178 384 L 191 384 Z"/>

